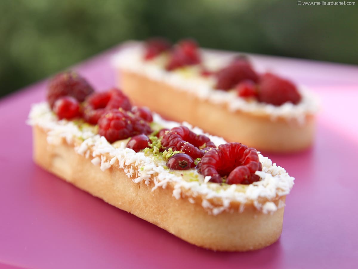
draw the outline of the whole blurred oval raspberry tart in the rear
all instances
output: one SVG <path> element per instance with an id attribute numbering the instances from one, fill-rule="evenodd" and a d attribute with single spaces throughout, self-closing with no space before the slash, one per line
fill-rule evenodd
<path id="1" fill-rule="evenodd" d="M 245 56 L 157 38 L 124 46 L 113 63 L 134 102 L 175 121 L 271 152 L 313 142 L 315 98 L 289 80 L 258 73 Z"/>

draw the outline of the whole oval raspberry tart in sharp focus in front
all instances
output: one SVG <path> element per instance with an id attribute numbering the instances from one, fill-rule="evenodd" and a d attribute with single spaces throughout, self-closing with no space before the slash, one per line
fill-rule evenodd
<path id="1" fill-rule="evenodd" d="M 165 121 L 119 89 L 95 92 L 74 72 L 50 81 L 47 100 L 28 120 L 44 169 L 200 247 L 279 238 L 294 178 L 254 148 Z"/>

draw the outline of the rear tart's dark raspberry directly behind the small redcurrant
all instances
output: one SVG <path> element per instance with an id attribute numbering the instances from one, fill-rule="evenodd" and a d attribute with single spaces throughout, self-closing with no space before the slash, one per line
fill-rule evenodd
<path id="1" fill-rule="evenodd" d="M 216 77 L 217 83 L 215 88 L 219 90 L 232 89 L 243 80 L 258 81 L 258 76 L 252 69 L 250 62 L 242 58 L 236 58 L 227 67 L 219 70 Z"/>

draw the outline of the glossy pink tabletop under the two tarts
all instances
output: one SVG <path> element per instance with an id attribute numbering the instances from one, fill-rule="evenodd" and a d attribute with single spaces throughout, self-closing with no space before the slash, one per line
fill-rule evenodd
<path id="1" fill-rule="evenodd" d="M 113 86 L 111 53 L 77 70 L 98 88 Z M 253 61 L 305 83 L 322 102 L 313 148 L 268 154 L 296 178 L 278 242 L 248 253 L 200 249 L 40 169 L 32 161 L 31 128 L 25 125 L 30 104 L 44 100 L 40 82 L 0 100 L 0 267 L 355 267 L 358 68 L 266 56 Z"/>

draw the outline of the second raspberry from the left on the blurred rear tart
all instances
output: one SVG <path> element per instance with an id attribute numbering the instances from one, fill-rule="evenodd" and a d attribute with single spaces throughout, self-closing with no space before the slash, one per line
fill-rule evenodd
<path id="1" fill-rule="evenodd" d="M 195 41 L 185 39 L 180 41 L 171 51 L 166 70 L 174 70 L 186 65 L 196 65 L 201 62 L 198 45 Z"/>

